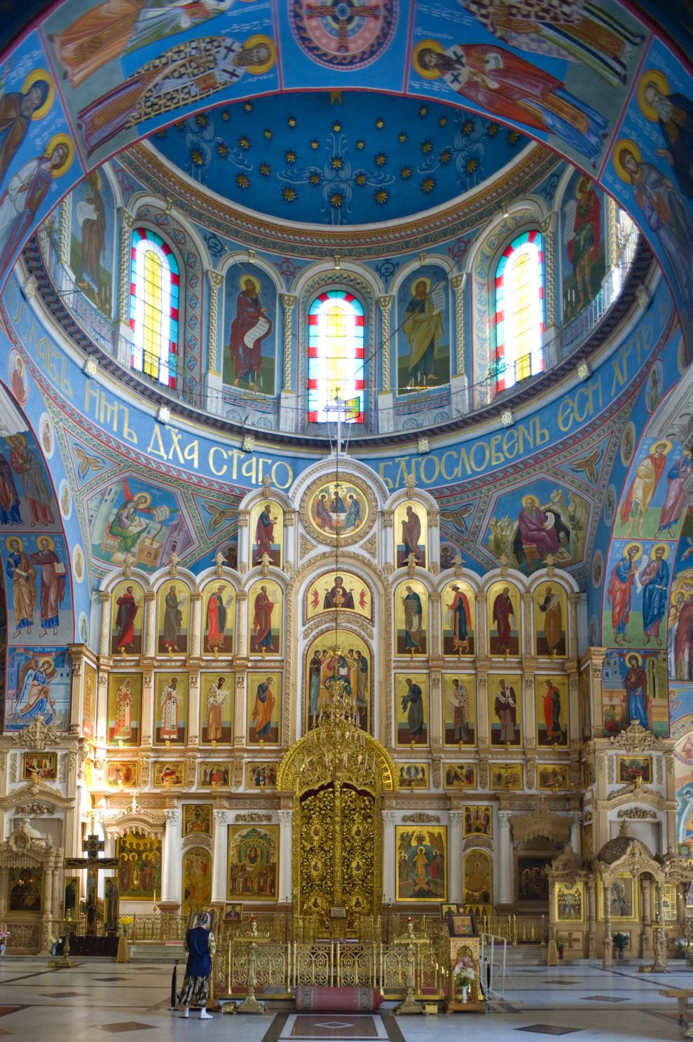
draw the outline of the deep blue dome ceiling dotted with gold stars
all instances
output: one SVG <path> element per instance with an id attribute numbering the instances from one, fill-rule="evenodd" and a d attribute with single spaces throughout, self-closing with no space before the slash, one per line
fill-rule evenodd
<path id="1" fill-rule="evenodd" d="M 375 92 L 257 98 L 208 109 L 150 140 L 232 203 L 330 225 L 398 220 L 449 203 L 528 142 L 471 113 Z"/>

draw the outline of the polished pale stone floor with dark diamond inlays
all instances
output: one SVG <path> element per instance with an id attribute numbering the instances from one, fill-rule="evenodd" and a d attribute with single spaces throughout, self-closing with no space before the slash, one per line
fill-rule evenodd
<path id="1" fill-rule="evenodd" d="M 679 1039 L 675 1002 L 660 988 L 693 989 L 693 970 L 671 964 L 667 974 L 642 974 L 635 964 L 604 972 L 597 966 L 512 968 L 504 998 L 485 1014 L 393 1017 L 296 1015 L 287 1009 L 265 1016 L 215 1014 L 200 1021 L 169 1011 L 170 965 L 77 961 L 50 970 L 46 960 L 0 960 L 0 1036 L 66 1042 L 99 1042 L 121 1035 L 126 1042 L 524 1042 L 550 1035 L 583 1035 L 586 1042 Z M 501 981 L 494 982 L 500 989 Z M 153 1034 L 152 1034 L 153 1033 Z M 521 1034 L 518 1034 L 521 1033 Z"/>

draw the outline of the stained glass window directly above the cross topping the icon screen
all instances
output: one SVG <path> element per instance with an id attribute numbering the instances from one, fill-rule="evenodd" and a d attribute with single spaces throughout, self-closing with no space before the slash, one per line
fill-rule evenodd
<path id="1" fill-rule="evenodd" d="M 364 308 L 346 290 L 327 290 L 308 311 L 308 423 L 364 422 Z"/>

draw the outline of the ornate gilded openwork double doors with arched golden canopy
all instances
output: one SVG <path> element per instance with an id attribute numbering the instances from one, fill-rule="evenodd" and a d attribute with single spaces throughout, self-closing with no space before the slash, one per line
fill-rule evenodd
<path id="1" fill-rule="evenodd" d="M 319 726 L 281 761 L 277 788 L 293 794 L 294 912 L 315 916 L 318 936 L 358 936 L 382 893 L 381 794 L 398 783 L 348 696 L 322 706 Z"/>

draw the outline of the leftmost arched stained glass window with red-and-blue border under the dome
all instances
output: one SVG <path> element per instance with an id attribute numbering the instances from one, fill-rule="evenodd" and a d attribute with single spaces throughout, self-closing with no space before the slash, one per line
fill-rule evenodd
<path id="1" fill-rule="evenodd" d="M 134 228 L 130 245 L 130 365 L 168 388 L 178 370 L 180 276 L 175 255 L 160 235 Z"/>

